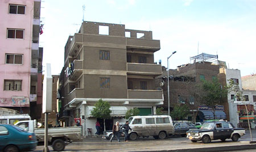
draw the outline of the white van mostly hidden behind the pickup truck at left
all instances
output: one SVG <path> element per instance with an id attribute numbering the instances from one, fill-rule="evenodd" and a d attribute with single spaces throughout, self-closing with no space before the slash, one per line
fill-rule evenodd
<path id="1" fill-rule="evenodd" d="M 28 114 L 19 114 L 19 115 L 3 115 L 0 116 L 0 124 L 11 124 L 14 125 L 18 121 L 31 120 L 30 115 Z"/>

